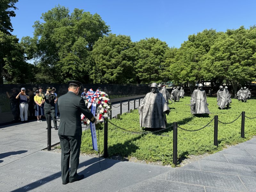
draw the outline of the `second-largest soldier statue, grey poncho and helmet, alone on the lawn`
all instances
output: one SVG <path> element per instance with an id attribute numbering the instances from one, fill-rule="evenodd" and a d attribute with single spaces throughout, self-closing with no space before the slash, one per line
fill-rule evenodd
<path id="1" fill-rule="evenodd" d="M 190 107 L 192 114 L 210 114 L 207 107 L 206 93 L 203 90 L 203 87 L 203 84 L 198 84 L 198 89 L 195 89 L 191 95 Z"/>

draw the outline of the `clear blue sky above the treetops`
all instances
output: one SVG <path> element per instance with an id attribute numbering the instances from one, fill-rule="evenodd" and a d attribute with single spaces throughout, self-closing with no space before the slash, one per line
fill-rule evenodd
<path id="1" fill-rule="evenodd" d="M 180 47 L 188 35 L 204 29 L 226 31 L 256 25 L 255 0 L 20 0 L 12 18 L 13 35 L 33 36 L 33 24 L 55 5 L 98 13 L 111 33 L 132 41 L 159 38 L 169 47 Z"/>

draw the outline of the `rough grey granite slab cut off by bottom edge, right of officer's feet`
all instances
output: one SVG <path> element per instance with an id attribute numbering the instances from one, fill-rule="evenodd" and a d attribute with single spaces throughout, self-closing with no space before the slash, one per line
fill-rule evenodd
<path id="1" fill-rule="evenodd" d="M 124 188 L 119 192 L 205 192 L 204 186 L 189 185 L 184 183 L 176 183 L 166 180 L 149 179 L 133 185 L 132 187 Z"/>

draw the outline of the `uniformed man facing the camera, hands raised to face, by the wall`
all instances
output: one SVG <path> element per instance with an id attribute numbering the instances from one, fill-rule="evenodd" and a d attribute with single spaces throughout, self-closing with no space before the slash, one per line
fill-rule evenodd
<path id="1" fill-rule="evenodd" d="M 46 94 L 42 95 L 44 99 L 44 115 L 47 120 L 48 115 L 51 115 L 53 119 L 54 129 L 58 130 L 57 128 L 57 121 L 55 116 L 55 103 L 54 100 L 56 99 L 56 96 L 54 93 L 52 93 L 52 87 L 46 88 Z M 48 121 L 47 121 L 48 123 Z M 47 129 L 47 128 L 46 128 Z"/>

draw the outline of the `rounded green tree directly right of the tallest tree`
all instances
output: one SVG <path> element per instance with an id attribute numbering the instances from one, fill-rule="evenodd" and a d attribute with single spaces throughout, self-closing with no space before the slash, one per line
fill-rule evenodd
<path id="1" fill-rule="evenodd" d="M 93 83 L 135 83 L 134 43 L 130 36 L 109 34 L 100 37 L 92 50 Z"/>

